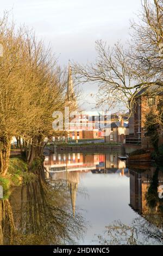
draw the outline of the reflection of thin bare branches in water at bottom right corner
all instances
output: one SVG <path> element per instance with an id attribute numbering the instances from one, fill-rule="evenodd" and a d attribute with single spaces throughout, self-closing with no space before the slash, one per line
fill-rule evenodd
<path id="1" fill-rule="evenodd" d="M 131 225 L 115 221 L 105 227 L 103 235 L 97 236 L 101 245 L 161 245 L 163 242 L 162 230 L 145 218 L 135 218 Z"/>

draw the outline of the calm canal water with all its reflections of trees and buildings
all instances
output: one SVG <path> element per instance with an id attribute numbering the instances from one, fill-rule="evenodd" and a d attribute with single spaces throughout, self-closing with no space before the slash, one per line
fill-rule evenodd
<path id="1" fill-rule="evenodd" d="M 0 243 L 156 245 L 163 241 L 163 168 L 121 151 L 46 156 L 35 180 L 0 201 Z"/>

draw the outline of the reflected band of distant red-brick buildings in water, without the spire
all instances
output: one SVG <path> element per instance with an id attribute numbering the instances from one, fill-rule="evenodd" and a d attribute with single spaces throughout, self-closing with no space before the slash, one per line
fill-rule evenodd
<path id="1" fill-rule="evenodd" d="M 89 172 L 92 173 L 119 173 L 128 175 L 126 161 L 118 157 L 118 153 L 107 154 L 53 154 L 45 159 L 48 173 L 60 172 Z M 55 176 L 55 175 L 53 175 Z"/>

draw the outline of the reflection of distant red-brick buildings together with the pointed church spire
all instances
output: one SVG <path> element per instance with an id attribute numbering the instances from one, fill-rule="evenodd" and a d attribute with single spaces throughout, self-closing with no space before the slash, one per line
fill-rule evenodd
<path id="1" fill-rule="evenodd" d="M 118 159 L 118 153 L 108 154 L 53 154 L 45 159 L 47 178 L 65 180 L 70 191 L 73 216 L 76 209 L 76 197 L 80 175 L 84 173 L 118 173 L 127 175 L 126 162 Z"/>

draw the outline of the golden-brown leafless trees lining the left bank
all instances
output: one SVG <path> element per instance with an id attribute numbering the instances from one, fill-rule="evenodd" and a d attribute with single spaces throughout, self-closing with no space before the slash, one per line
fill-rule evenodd
<path id="1" fill-rule="evenodd" d="M 53 112 L 72 102 L 66 101 L 66 71 L 51 48 L 27 27 L 16 29 L 7 12 L 0 20 L 0 43 L 0 174 L 5 175 L 12 137 L 23 139 L 31 164 L 42 156 L 45 138 L 62 134 L 52 128 Z"/>

